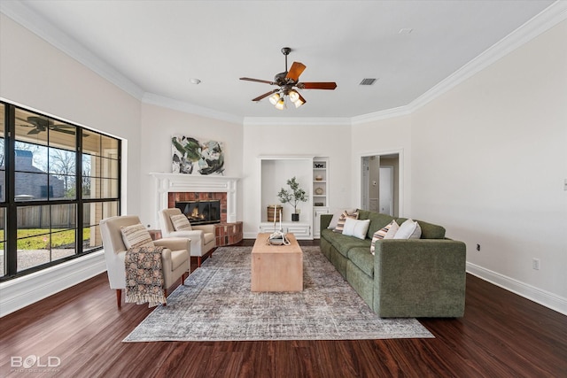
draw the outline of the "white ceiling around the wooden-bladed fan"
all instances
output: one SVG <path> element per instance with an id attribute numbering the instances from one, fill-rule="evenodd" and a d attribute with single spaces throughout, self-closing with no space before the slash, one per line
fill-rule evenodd
<path id="1" fill-rule="evenodd" d="M 3 0 L 5 2 L 5 0 Z M 244 117 L 351 118 L 410 104 L 554 3 L 491 1 L 21 1 L 131 81 L 144 98 Z M 400 29 L 411 29 L 400 33 Z M 301 93 L 281 112 L 252 102 L 288 58 Z M 91 62 L 97 65 L 97 62 Z M 201 83 L 190 83 L 198 78 Z M 364 78 L 377 78 L 361 86 Z M 128 80 L 126 80 L 128 79 Z"/>

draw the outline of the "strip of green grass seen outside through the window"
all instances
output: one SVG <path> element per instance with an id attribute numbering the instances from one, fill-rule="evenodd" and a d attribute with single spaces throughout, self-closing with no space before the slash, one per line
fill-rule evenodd
<path id="1" fill-rule="evenodd" d="M 74 248 L 74 229 L 30 228 L 18 230 L 18 250 L 49 250 L 50 248 Z M 50 240 L 51 238 L 51 240 Z M 82 239 L 90 239 L 90 228 L 83 228 Z M 0 240 L 4 240 L 4 230 L 0 230 Z M 4 243 L 0 242 L 0 250 L 4 250 Z"/>

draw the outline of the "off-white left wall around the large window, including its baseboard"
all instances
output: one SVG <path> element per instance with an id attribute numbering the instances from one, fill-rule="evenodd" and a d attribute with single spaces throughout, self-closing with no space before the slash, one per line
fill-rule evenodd
<path id="1" fill-rule="evenodd" d="M 140 102 L 0 13 L 0 97 L 38 112 L 128 140 L 123 181 L 140 172 Z M 126 212 L 141 202 L 125 187 Z M 101 252 L 0 284 L 0 316 L 105 271 Z M 109 289 L 109 296 L 112 293 Z"/>

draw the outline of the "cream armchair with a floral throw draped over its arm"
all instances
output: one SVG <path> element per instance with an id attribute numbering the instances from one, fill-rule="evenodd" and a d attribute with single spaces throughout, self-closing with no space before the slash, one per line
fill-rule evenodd
<path id="1" fill-rule="evenodd" d="M 128 248 L 122 239 L 121 227 L 140 223 L 136 215 L 125 215 L 106 218 L 100 221 L 100 232 L 105 249 L 106 269 L 110 288 L 116 290 L 116 303 L 120 308 L 122 289 L 126 289 L 126 268 L 124 258 Z M 165 247 L 161 253 L 164 276 L 164 293 L 174 282 L 183 279 L 190 272 L 190 240 L 186 237 L 159 239 L 153 242 L 156 246 Z"/>

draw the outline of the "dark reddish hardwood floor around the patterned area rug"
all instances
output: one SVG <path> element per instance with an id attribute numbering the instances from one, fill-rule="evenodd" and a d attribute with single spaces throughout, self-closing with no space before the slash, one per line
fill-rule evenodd
<path id="1" fill-rule="evenodd" d="M 99 274 L 0 320 L 0 376 L 567 377 L 566 316 L 472 275 L 466 301 L 420 319 L 434 339 L 121 343 L 151 309 L 117 309 Z"/>

